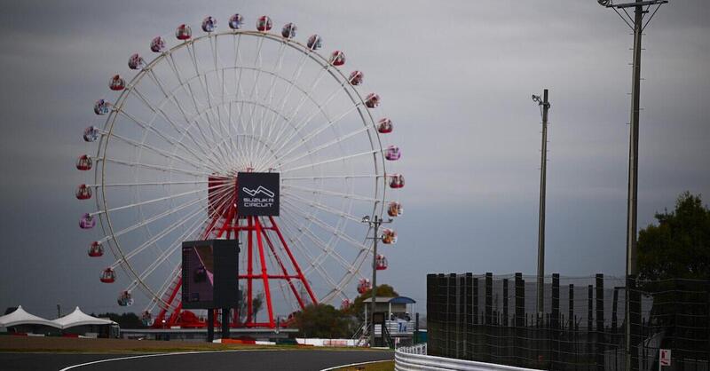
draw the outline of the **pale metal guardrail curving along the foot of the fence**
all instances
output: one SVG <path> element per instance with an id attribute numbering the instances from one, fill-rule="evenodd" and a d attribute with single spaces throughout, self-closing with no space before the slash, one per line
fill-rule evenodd
<path id="1" fill-rule="evenodd" d="M 533 368 L 434 357 L 426 352 L 426 344 L 399 348 L 394 355 L 395 371 L 538 371 Z"/>

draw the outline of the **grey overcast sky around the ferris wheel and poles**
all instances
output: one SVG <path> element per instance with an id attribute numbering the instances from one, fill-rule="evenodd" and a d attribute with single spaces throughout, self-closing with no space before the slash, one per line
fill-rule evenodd
<path id="1" fill-rule="evenodd" d="M 640 226 L 682 191 L 710 198 L 710 4 L 671 3 L 643 39 Z M 76 228 L 85 210 L 73 196 L 83 181 L 74 162 L 86 151 L 90 107 L 153 36 L 206 15 L 224 26 L 234 12 L 317 29 L 383 96 L 407 183 L 380 281 L 423 305 L 427 272 L 535 273 L 540 112 L 530 96 L 544 88 L 547 270 L 623 274 L 632 36 L 594 0 L 5 0 L 2 311 L 119 310 Z"/>

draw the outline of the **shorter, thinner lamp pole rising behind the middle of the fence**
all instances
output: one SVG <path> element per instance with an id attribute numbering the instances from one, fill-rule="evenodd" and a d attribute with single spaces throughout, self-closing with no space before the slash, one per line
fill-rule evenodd
<path id="1" fill-rule="evenodd" d="M 548 178 L 548 90 L 539 95 L 533 95 L 542 111 L 542 146 L 540 155 L 540 217 L 538 225 L 538 284 L 537 284 L 537 310 L 538 314 L 545 312 L 545 194 Z"/>

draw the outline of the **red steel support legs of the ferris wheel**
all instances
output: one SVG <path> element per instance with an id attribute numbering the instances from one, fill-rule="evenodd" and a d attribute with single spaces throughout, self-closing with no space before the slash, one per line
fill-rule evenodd
<path id="1" fill-rule="evenodd" d="M 214 178 L 210 177 L 210 182 L 213 182 Z M 239 275 L 239 280 L 246 280 L 246 318 L 242 322 L 240 320 L 240 312 L 238 310 L 233 311 L 232 324 L 228 327 L 230 328 L 276 328 L 277 319 L 273 311 L 272 304 L 272 293 L 271 293 L 271 283 L 273 280 L 286 280 L 287 286 L 293 296 L 296 299 L 298 307 L 303 310 L 308 304 L 318 304 L 318 298 L 312 291 L 311 285 L 308 280 L 306 280 L 304 272 L 301 270 L 300 265 L 296 262 L 296 257 L 292 253 L 288 246 L 288 242 L 281 233 L 279 225 L 277 223 L 277 217 L 267 216 L 267 217 L 256 217 L 239 216 L 239 210 L 237 209 L 237 190 L 238 181 L 237 178 L 226 178 L 219 177 L 219 185 L 215 188 L 219 189 L 219 193 L 223 195 L 223 198 L 227 198 L 228 201 L 224 203 L 227 205 L 224 208 L 210 211 L 210 219 L 205 226 L 204 233 L 202 234 L 203 240 L 209 239 L 227 239 L 227 240 L 241 240 L 247 241 L 247 270 L 245 273 Z M 211 189 L 212 186 L 210 186 Z M 241 233 L 245 233 L 244 236 Z M 246 237 L 246 238 L 244 238 Z M 242 252 L 243 253 L 243 252 Z M 270 267 L 267 264 L 267 257 L 271 257 L 273 264 Z M 276 272 L 270 272 L 269 269 Z M 256 297 L 256 292 L 254 288 L 255 282 L 260 281 L 262 287 L 264 288 L 264 302 L 266 304 L 267 320 L 256 321 L 255 313 L 253 312 L 254 297 Z M 298 289 L 298 285 L 304 288 L 306 295 Z M 166 320 L 166 326 L 179 326 L 181 328 L 205 328 L 208 327 L 208 321 L 192 321 L 186 322 L 185 316 L 182 316 L 183 312 L 182 304 L 175 303 L 177 298 L 177 293 L 180 290 L 182 284 L 182 277 L 180 273 L 173 280 L 168 289 L 163 293 L 163 305 L 161 312 L 156 316 L 154 323 L 161 323 L 162 320 Z M 170 309 L 175 308 L 169 315 Z M 226 318 L 225 318 L 225 312 Z M 225 319 L 228 318 L 229 311 L 223 311 L 222 313 L 222 326 L 223 331 L 225 329 Z M 281 326 L 288 325 L 288 321 L 281 322 Z M 155 325 L 154 325 L 155 326 Z"/>

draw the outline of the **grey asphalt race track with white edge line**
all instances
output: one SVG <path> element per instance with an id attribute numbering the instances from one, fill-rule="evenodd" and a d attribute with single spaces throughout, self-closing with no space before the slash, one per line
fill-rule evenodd
<path id="1" fill-rule="evenodd" d="M 102 359 L 117 359 L 71 368 L 72 371 L 313 371 L 339 365 L 394 359 L 392 351 L 201 351 L 162 353 L 133 359 L 140 354 L 0 353 L 0 370 L 54 370 Z"/>

